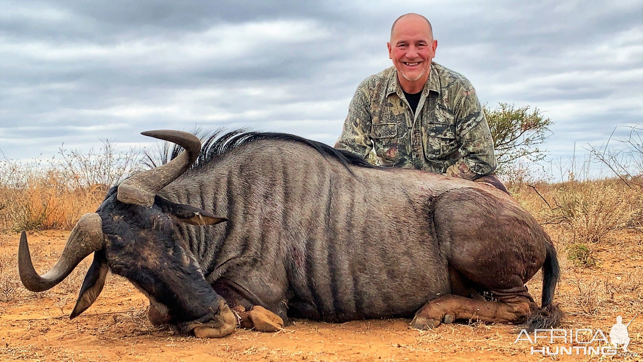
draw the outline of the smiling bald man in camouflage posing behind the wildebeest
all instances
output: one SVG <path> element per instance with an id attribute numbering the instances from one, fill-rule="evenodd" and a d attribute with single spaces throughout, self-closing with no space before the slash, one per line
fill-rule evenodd
<path id="1" fill-rule="evenodd" d="M 335 148 L 366 157 L 374 147 L 384 166 L 478 179 L 506 192 L 489 175 L 497 166 L 493 139 L 473 86 L 432 62 L 431 23 L 402 15 L 386 45 L 394 66 L 359 84 Z"/>

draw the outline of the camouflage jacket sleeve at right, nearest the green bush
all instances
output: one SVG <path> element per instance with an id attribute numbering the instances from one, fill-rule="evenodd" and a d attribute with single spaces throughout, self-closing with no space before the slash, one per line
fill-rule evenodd
<path id="1" fill-rule="evenodd" d="M 489 175 L 498 166 L 493 151 L 493 138 L 480 100 L 472 86 L 462 88 L 456 103 L 456 133 L 462 158 L 447 169 L 447 174 L 467 180 Z"/>

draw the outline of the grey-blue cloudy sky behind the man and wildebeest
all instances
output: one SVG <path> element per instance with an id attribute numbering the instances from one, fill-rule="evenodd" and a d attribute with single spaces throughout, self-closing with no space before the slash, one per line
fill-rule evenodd
<path id="1" fill-rule="evenodd" d="M 0 149 L 151 144 L 147 129 L 249 127 L 329 144 L 350 97 L 390 66 L 407 12 L 478 97 L 555 124 L 551 158 L 643 122 L 643 1 L 0 0 Z M 626 128 L 617 128 L 617 135 Z"/>

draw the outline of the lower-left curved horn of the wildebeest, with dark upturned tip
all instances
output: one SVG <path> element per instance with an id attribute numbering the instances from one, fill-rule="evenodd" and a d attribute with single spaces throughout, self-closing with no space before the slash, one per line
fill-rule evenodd
<path id="1" fill-rule="evenodd" d="M 40 276 L 33 269 L 32 256 L 23 231 L 18 247 L 18 271 L 26 289 L 42 292 L 51 289 L 64 280 L 87 255 L 103 248 L 102 220 L 96 213 L 84 214 L 71 230 L 65 249 L 56 265 Z"/>

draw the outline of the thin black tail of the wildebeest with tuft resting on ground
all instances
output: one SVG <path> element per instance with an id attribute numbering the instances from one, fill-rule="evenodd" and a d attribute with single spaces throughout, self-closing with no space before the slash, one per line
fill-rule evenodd
<path id="1" fill-rule="evenodd" d="M 543 263 L 543 296 L 540 309 L 534 312 L 527 323 L 525 323 L 529 332 L 536 329 L 558 327 L 563 317 L 563 312 L 561 312 L 558 305 L 552 303 L 554 292 L 556 292 L 556 284 L 560 278 L 560 267 L 556 256 L 556 248 L 554 248 L 554 244 L 549 236 L 546 237 L 545 251 L 547 254 L 545 256 L 545 263 Z"/>

